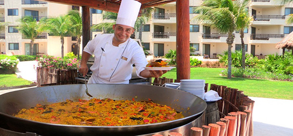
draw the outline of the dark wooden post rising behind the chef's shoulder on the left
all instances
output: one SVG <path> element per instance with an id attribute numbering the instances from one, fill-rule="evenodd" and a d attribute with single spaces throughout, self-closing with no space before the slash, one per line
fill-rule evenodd
<path id="1" fill-rule="evenodd" d="M 87 42 L 90 40 L 90 15 L 89 14 L 90 14 L 89 6 L 82 6 L 83 50 Z"/>

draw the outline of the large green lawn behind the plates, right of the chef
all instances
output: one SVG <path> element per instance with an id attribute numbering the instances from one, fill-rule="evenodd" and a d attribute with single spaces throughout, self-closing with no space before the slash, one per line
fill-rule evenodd
<path id="1" fill-rule="evenodd" d="M 293 82 L 265 79 L 232 78 L 220 76 L 224 68 L 191 68 L 190 79 L 204 79 L 206 83 L 223 85 L 244 91 L 252 97 L 293 100 Z M 176 68 L 163 75 L 176 79 Z"/>

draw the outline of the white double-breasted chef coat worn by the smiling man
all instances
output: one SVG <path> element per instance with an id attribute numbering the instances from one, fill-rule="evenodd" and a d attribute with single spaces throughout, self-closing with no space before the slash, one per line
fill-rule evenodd
<path id="1" fill-rule="evenodd" d="M 147 61 L 143 48 L 132 39 L 119 46 L 112 45 L 114 34 L 97 35 L 87 43 L 84 51 L 94 54 L 95 62 L 90 67 L 93 71 L 89 84 L 128 84 L 135 64 L 136 74 L 146 67 Z"/>

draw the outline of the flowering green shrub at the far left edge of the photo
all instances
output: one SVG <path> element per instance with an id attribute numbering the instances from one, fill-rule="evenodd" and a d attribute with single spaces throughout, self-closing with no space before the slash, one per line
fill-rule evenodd
<path id="1" fill-rule="evenodd" d="M 0 60 L 0 74 L 13 74 L 17 70 L 17 64 L 19 60 L 11 60 L 5 58 Z"/>

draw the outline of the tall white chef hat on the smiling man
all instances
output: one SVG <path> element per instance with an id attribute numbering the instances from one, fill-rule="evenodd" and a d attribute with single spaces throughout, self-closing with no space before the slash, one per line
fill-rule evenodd
<path id="1" fill-rule="evenodd" d="M 135 0 L 122 0 L 116 20 L 116 24 L 134 27 L 141 3 Z"/>

